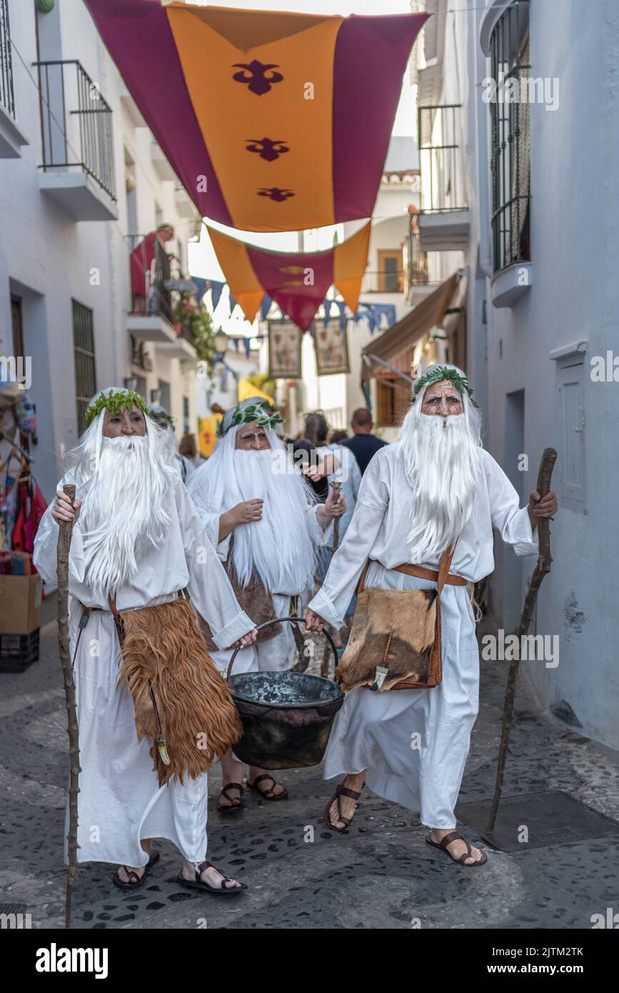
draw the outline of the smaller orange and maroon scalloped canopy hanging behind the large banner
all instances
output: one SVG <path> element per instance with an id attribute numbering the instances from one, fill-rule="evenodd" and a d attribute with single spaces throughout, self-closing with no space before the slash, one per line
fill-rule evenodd
<path id="1" fill-rule="evenodd" d="M 354 313 L 367 265 L 370 223 L 327 251 L 282 252 L 256 248 L 208 227 L 230 292 L 248 321 L 267 293 L 284 314 L 307 331 L 329 286 Z"/>

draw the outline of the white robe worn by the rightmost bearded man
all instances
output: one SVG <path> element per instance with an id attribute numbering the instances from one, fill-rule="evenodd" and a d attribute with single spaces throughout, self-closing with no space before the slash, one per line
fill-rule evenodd
<path id="1" fill-rule="evenodd" d="M 477 582 L 494 568 L 492 528 L 517 555 L 538 551 L 527 508 L 485 451 L 482 477 L 470 519 L 457 540 L 450 572 Z M 376 453 L 365 471 L 346 536 L 332 558 L 324 584 L 309 607 L 334 627 L 367 557 L 375 560 L 365 585 L 382 589 L 435 589 L 436 584 L 394 571 L 411 561 L 408 534 L 413 495 L 398 444 Z M 421 562 L 436 570 L 438 561 Z M 453 807 L 477 716 L 479 652 L 468 591 L 445 585 L 440 595 L 442 681 L 433 689 L 346 694 L 335 717 L 324 757 L 324 779 L 367 770 L 379 796 L 419 811 L 424 824 L 455 827 Z"/>

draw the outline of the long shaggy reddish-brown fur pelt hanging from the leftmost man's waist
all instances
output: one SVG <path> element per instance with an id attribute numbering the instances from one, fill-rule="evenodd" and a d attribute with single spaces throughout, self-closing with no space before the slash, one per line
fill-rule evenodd
<path id="1" fill-rule="evenodd" d="M 123 638 L 119 682 L 133 697 L 138 739 L 153 741 L 160 785 L 205 773 L 239 740 L 243 728 L 232 695 L 208 654 L 187 600 L 120 612 Z M 171 765 L 160 737 L 151 687 Z"/>

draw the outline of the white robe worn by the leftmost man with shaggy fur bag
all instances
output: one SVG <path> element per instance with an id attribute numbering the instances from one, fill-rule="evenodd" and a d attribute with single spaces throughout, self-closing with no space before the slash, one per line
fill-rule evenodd
<path id="1" fill-rule="evenodd" d="M 72 482 L 68 477 L 59 484 Z M 87 493 L 87 486 L 77 497 Z M 253 628 L 238 605 L 180 476 L 164 496 L 170 517 L 166 540 L 142 556 L 133 585 L 116 596 L 119 610 L 152 607 L 176 599 L 186 589 L 205 618 L 215 641 L 225 647 Z M 59 527 L 48 507 L 35 539 L 34 561 L 44 580 L 57 584 Z M 172 780 L 160 786 L 149 754 L 151 743 L 138 742 L 133 700 L 117 685 L 120 645 L 108 604 L 83 582 L 84 559 L 79 519 L 73 526 L 69 555 L 69 639 L 73 658 L 80 617 L 79 602 L 93 611 L 77 648 L 73 678 L 79 726 L 79 862 L 143 866 L 144 838 L 168 838 L 189 862 L 206 855 L 207 776 Z M 67 813 L 68 817 L 68 813 Z"/>

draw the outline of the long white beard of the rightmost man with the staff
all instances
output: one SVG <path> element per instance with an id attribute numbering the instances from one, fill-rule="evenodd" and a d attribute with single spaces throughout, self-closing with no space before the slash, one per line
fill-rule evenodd
<path id="1" fill-rule="evenodd" d="M 411 562 L 435 562 L 453 545 L 477 500 L 478 441 L 464 414 L 420 411 L 407 415 L 400 445 L 414 495 Z"/>

